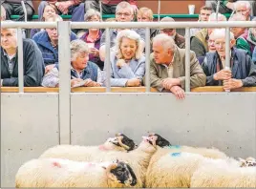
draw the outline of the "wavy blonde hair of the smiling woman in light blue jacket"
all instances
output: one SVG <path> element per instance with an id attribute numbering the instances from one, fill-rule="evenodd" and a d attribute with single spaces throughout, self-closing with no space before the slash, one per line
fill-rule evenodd
<path id="1" fill-rule="evenodd" d="M 136 31 L 131 31 L 131 30 L 118 31 L 117 41 L 116 41 L 117 58 L 120 59 L 123 57 L 122 52 L 120 50 L 123 38 L 128 38 L 136 41 L 137 50 L 136 50 L 135 58 L 139 59 L 143 53 L 143 45 L 142 45 L 141 37 Z"/>

